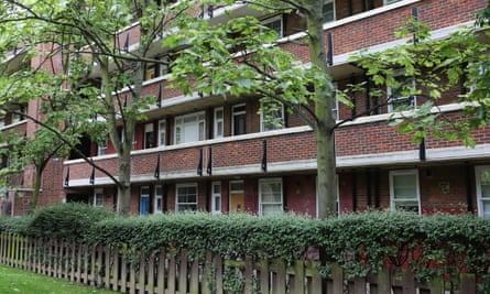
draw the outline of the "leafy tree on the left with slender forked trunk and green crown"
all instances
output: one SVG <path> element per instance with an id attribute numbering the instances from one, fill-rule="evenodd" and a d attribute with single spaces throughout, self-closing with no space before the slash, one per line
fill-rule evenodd
<path id="1" fill-rule="evenodd" d="M 188 4 L 185 1 L 174 4 L 173 1 L 143 0 L 8 0 L 1 6 L 1 52 L 6 54 L 22 45 L 26 56 L 40 59 L 33 70 L 3 72 L 2 85 L 8 85 L 7 80 L 13 75 L 18 76 L 15 87 L 6 91 L 8 97 L 43 98 L 44 105 L 48 106 L 44 116 L 48 113 L 53 122 L 46 124 L 46 117 L 30 119 L 35 119 L 42 129 L 72 149 L 84 134 L 90 134 L 92 140 L 100 139 L 105 132 L 109 134 L 119 156 L 118 177 L 90 159 L 85 160 L 117 184 L 122 215 L 130 213 L 132 150 L 132 140 L 124 138 L 133 137 L 137 120 L 154 104 L 154 96 L 141 94 L 144 65 L 163 63 L 150 58 L 151 46 Z M 121 32 L 133 21 L 139 22 L 140 42 L 134 51 L 130 51 Z M 92 83 L 95 73 L 100 75 L 100 85 Z M 63 88 L 61 94 L 59 88 Z M 120 95 L 122 88 L 127 88 L 129 95 Z M 7 106 L 7 102 L 3 96 L 0 106 Z M 56 124 L 68 126 L 72 135 L 66 137 L 57 128 L 52 128 Z M 39 133 L 36 138 L 29 138 L 39 139 Z M 40 151 L 37 157 L 45 160 L 45 152 Z"/>

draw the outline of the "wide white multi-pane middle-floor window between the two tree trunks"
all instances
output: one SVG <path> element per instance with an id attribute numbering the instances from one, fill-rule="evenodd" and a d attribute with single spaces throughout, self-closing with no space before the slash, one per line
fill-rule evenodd
<path id="1" fill-rule="evenodd" d="M 175 118 L 175 143 L 188 143 L 205 139 L 204 111 Z"/>

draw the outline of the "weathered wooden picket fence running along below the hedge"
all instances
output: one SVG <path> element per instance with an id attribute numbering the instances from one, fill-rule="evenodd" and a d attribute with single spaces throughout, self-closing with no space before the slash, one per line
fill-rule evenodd
<path id="1" fill-rule="evenodd" d="M 0 233 L 0 262 L 48 276 L 123 293 L 355 293 L 476 294 L 473 274 L 458 274 L 417 283 L 406 270 L 383 270 L 369 277 L 347 280 L 331 265 L 327 277 L 313 260 L 286 265 L 281 260 L 226 260 L 210 252 L 198 259 L 185 251 L 162 249 L 152 254 L 122 254 L 107 246 L 42 241 Z"/>

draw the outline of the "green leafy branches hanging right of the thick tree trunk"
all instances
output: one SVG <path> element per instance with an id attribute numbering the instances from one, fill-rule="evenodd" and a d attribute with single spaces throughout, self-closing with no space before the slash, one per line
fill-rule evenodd
<path id="1" fill-rule="evenodd" d="M 478 23 L 484 24 L 481 19 Z M 490 121 L 490 32 L 461 26 L 446 39 L 432 40 L 428 25 L 410 19 L 396 35 L 411 37 L 404 45 L 374 53 L 364 50 L 351 57 L 375 85 L 370 96 L 386 97 L 382 106 L 390 104 L 388 88 L 402 97 L 416 97 L 416 108 L 402 105 L 390 118 L 414 143 L 432 135 L 475 146 L 471 131 Z M 460 88 L 466 91 L 455 95 Z M 460 105 L 461 118 L 446 116 L 440 106 L 448 104 Z"/>

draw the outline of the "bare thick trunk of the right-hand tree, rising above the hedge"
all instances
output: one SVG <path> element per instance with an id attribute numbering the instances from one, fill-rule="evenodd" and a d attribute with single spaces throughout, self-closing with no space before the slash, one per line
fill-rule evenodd
<path id="1" fill-rule="evenodd" d="M 327 76 L 325 37 L 323 30 L 323 1 L 304 0 L 308 29 L 308 47 L 312 66 Z M 326 218 L 337 213 L 337 176 L 335 161 L 335 120 L 331 113 L 335 99 L 331 80 L 315 85 L 315 116 L 317 118 L 317 195 L 318 217 Z"/>

